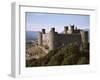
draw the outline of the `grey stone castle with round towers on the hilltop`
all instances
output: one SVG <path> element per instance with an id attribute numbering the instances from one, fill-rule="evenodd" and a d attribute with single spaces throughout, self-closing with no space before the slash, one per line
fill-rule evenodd
<path id="1" fill-rule="evenodd" d="M 38 35 L 38 45 L 46 46 L 48 50 L 54 50 L 62 45 L 76 42 L 82 44 L 88 42 L 88 31 L 77 29 L 74 25 L 64 26 L 64 32 L 55 32 L 55 28 L 51 28 L 49 33 L 42 29 Z"/>

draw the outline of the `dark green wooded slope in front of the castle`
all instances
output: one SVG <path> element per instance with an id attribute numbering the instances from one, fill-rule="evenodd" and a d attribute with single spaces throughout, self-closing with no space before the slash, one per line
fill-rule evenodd
<path id="1" fill-rule="evenodd" d="M 26 67 L 89 64 L 89 43 L 81 47 L 70 43 L 50 51 L 39 59 L 26 60 Z"/>

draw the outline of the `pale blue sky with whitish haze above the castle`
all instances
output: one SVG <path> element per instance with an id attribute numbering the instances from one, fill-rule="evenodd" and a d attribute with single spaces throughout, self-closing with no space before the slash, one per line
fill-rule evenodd
<path id="1" fill-rule="evenodd" d="M 90 26 L 89 15 L 26 12 L 25 19 L 26 31 L 46 29 L 49 32 L 54 27 L 57 32 L 62 32 L 64 26 L 72 24 L 81 29 L 89 29 Z"/>

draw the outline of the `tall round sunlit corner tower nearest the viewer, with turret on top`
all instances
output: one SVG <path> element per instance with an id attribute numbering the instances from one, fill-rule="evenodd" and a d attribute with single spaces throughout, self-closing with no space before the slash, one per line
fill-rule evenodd
<path id="1" fill-rule="evenodd" d="M 51 28 L 49 32 L 49 50 L 54 49 L 55 28 Z"/>

